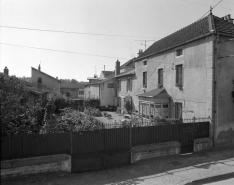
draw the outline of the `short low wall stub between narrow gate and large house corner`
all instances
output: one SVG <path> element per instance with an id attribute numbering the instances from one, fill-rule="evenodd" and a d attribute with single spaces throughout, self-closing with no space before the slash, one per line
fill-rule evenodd
<path id="1" fill-rule="evenodd" d="M 213 141 L 210 138 L 201 138 L 194 140 L 193 152 L 210 150 L 212 148 L 213 148 Z"/>

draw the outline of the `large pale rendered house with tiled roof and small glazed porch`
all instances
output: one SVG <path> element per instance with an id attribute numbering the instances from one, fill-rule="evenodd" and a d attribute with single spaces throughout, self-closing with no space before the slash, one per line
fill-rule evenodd
<path id="1" fill-rule="evenodd" d="M 212 13 L 135 59 L 133 103 L 144 117 L 210 118 L 214 142 L 234 143 L 234 24 Z"/>

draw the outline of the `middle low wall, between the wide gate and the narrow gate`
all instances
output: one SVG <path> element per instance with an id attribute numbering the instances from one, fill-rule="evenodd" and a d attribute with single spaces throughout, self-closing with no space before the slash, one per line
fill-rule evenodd
<path id="1" fill-rule="evenodd" d="M 180 154 L 180 147 L 181 144 L 176 141 L 133 147 L 131 151 L 131 163 L 153 157 L 178 155 Z"/>

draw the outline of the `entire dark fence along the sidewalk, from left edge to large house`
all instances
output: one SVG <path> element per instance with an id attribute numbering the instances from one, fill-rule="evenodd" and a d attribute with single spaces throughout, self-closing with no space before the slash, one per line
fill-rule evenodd
<path id="1" fill-rule="evenodd" d="M 181 125 L 184 125 L 181 127 Z M 1 160 L 55 154 L 77 157 L 103 155 L 129 150 L 131 147 L 152 143 L 179 141 L 189 125 L 192 139 L 209 136 L 209 122 L 125 127 L 57 134 L 12 135 L 1 137 Z M 189 134 L 190 134 L 189 133 Z M 191 139 L 189 136 L 188 139 Z M 72 147 L 71 147 L 72 142 Z M 72 150 L 71 150 L 72 148 Z"/>

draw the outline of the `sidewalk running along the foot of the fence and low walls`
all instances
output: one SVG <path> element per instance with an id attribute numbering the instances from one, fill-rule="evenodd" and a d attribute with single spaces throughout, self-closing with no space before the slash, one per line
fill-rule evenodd
<path id="1" fill-rule="evenodd" d="M 133 165 L 83 173 L 47 173 L 3 179 L 2 184 L 196 184 L 199 179 L 234 178 L 234 147 L 167 156 Z M 218 177 L 217 177 L 218 178 Z M 216 178 L 216 180 L 217 180 Z M 227 181 L 227 182 L 230 182 Z"/>

